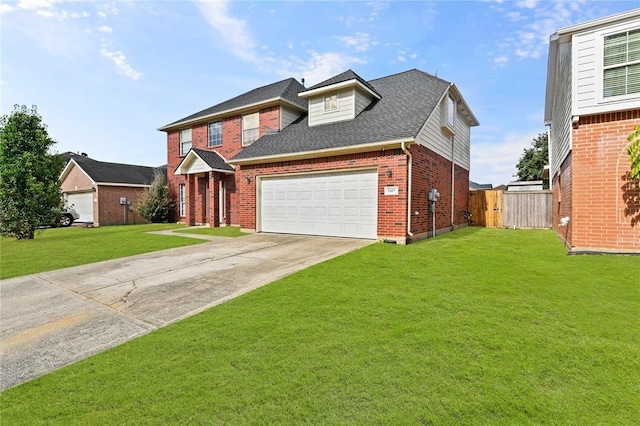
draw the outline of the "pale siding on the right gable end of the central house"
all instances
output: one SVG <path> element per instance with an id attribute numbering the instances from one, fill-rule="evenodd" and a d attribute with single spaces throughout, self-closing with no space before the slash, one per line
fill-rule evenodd
<path id="1" fill-rule="evenodd" d="M 446 101 L 447 97 L 445 96 L 442 102 Z M 425 125 L 422 127 L 422 130 L 420 130 L 416 140 L 420 145 L 429 148 L 447 160 L 451 160 L 452 136 L 450 133 L 445 132 L 442 129 L 442 111 L 442 105 L 438 105 L 434 109 L 433 114 L 431 114 L 431 117 L 429 117 Z M 471 166 L 470 138 L 471 129 L 469 124 L 458 112 L 456 112 L 454 162 L 466 170 L 469 170 Z"/>

